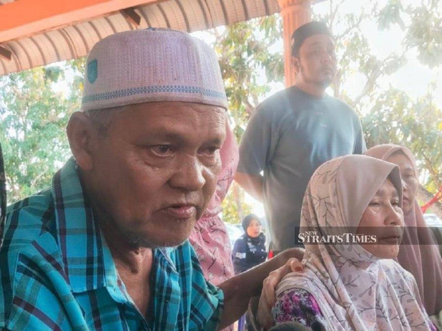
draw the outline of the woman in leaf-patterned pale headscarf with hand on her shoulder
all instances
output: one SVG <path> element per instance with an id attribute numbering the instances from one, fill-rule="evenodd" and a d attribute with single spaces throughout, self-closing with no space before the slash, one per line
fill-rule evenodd
<path id="1" fill-rule="evenodd" d="M 347 231 L 367 237 L 360 243 L 351 235 L 333 244 L 304 241 L 304 272 L 287 275 L 277 286 L 276 322 L 328 331 L 436 330 L 414 277 L 393 260 L 404 222 L 401 205 L 394 164 L 347 155 L 321 165 L 305 191 L 302 230 L 320 238 L 346 238 Z"/>

